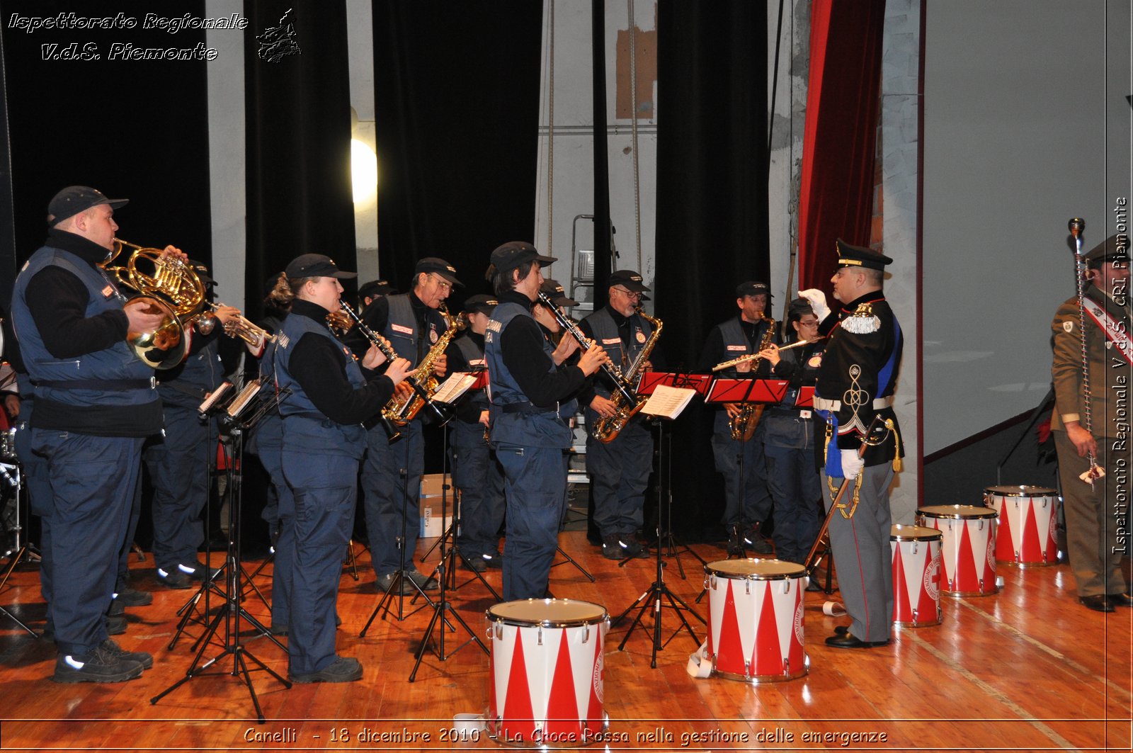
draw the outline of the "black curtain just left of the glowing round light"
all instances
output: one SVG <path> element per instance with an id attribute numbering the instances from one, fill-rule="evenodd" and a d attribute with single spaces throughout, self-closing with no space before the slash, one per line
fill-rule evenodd
<path id="1" fill-rule="evenodd" d="M 350 90 L 342 0 L 248 0 L 248 29 L 280 26 L 288 12 L 298 54 L 272 62 L 245 44 L 248 310 L 264 281 L 305 253 L 357 269 L 350 185 Z"/>

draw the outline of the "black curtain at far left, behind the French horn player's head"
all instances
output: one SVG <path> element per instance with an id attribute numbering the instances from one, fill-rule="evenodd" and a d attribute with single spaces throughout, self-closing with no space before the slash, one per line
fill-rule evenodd
<path id="1" fill-rule="evenodd" d="M 120 235 L 143 246 L 173 244 L 212 262 L 205 60 L 123 60 L 121 48 L 194 48 L 204 32 L 143 28 L 145 15 L 204 16 L 202 0 L 3 0 L 6 99 L 16 259 L 46 237 L 48 202 L 87 185 L 130 200 L 116 212 Z M 39 28 L 12 17 L 116 17 L 133 28 Z M 238 32 L 235 32 L 238 33 Z M 56 48 L 44 45 L 58 45 Z M 116 54 L 117 59 L 111 59 Z M 82 59 L 82 56 L 88 59 Z M 99 56 L 97 59 L 92 56 Z M 58 56 L 58 59 L 51 59 Z M 79 59 L 75 59 L 78 57 Z M 6 239 L 7 240 L 7 239 Z M 2 272 L 6 295 L 12 278 Z"/>

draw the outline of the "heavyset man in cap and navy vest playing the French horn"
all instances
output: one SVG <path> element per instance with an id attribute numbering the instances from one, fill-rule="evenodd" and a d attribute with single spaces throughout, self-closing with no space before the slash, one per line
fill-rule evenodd
<path id="1" fill-rule="evenodd" d="M 101 268 L 114 249 L 114 210 L 127 202 L 87 186 L 56 194 L 48 239 L 12 290 L 12 322 L 34 384 L 29 449 L 45 458 L 51 490 L 36 507 L 59 683 L 122 682 L 153 665 L 148 653 L 122 651 L 104 618 L 142 445 L 162 429 L 154 371 L 126 338 L 156 330 L 163 316 L 147 302 L 127 302 Z M 186 260 L 172 246 L 163 253 Z"/>

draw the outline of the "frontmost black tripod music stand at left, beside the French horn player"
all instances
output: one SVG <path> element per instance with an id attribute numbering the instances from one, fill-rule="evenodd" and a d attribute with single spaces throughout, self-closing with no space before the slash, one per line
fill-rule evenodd
<path id="1" fill-rule="evenodd" d="M 274 403 L 275 396 L 272 396 L 271 401 Z M 266 403 L 266 401 L 265 401 Z M 242 460 L 244 455 L 244 433 L 259 420 L 263 415 L 265 407 L 261 407 L 256 413 L 245 423 L 236 424 L 232 426 L 232 450 L 227 457 L 227 473 L 231 474 L 229 479 L 230 484 L 235 481 L 236 465 Z M 185 672 L 185 677 L 177 680 L 168 688 L 159 693 L 157 695 L 150 699 L 151 704 L 156 704 L 157 701 L 165 697 L 178 687 L 189 682 L 194 677 L 202 675 L 206 669 L 215 665 L 218 661 L 224 657 L 232 657 L 232 670 L 229 672 L 233 677 L 239 677 L 241 682 L 248 687 L 248 693 L 252 695 L 252 704 L 256 709 L 256 718 L 259 724 L 264 724 L 264 712 L 259 708 L 259 699 L 256 696 L 256 688 L 252 684 L 252 674 L 248 670 L 248 659 L 255 662 L 261 669 L 266 671 L 269 675 L 278 679 L 283 684 L 283 687 L 290 689 L 291 683 L 281 677 L 275 670 L 271 669 L 257 659 L 250 651 L 248 651 L 240 641 L 240 620 L 244 619 L 250 624 L 258 635 L 266 636 L 272 643 L 274 643 L 284 654 L 287 654 L 287 648 L 280 643 L 271 631 L 259 623 L 255 617 L 249 615 L 242 606 L 244 598 L 244 581 L 247 578 L 247 574 L 240 566 L 240 517 L 242 507 L 242 492 L 239 485 L 231 487 L 235 489 L 232 494 L 232 519 L 229 526 L 229 543 L 228 553 L 224 560 L 224 567 L 221 568 L 225 573 L 225 586 L 224 592 L 224 603 L 218 610 L 216 616 L 213 617 L 212 623 L 208 625 L 208 629 L 202 635 L 197 643 L 201 648 L 197 650 L 196 655 L 193 658 L 193 662 L 189 665 L 188 670 Z M 205 584 L 202 586 L 202 591 L 207 593 L 207 589 L 212 586 L 212 578 L 206 578 Z M 194 599 L 198 598 L 194 597 Z M 205 649 L 210 645 L 210 640 L 216 636 L 216 632 L 224 624 L 224 638 L 223 638 L 223 651 L 221 651 L 216 657 L 208 659 L 204 663 L 201 662 L 204 655 Z"/>

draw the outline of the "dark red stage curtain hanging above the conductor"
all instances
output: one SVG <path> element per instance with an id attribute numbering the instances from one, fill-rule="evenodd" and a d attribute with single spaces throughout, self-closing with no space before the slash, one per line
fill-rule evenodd
<path id="1" fill-rule="evenodd" d="M 885 0 L 815 0 L 811 7 L 799 287 L 827 297 L 834 240 L 869 245 L 884 22 Z"/>

